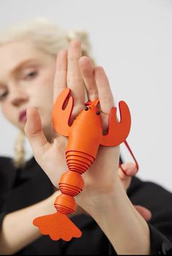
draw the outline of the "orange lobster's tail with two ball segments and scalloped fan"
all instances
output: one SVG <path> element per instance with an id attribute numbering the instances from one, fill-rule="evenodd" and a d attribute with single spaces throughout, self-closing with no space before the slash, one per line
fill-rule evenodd
<path id="1" fill-rule="evenodd" d="M 33 222 L 43 235 L 49 235 L 55 241 L 60 238 L 69 241 L 73 237 L 82 236 L 79 228 L 67 215 L 74 213 L 76 209 L 74 196 L 78 195 L 83 187 L 84 181 L 79 173 L 69 170 L 61 176 L 59 188 L 62 194 L 56 197 L 54 203 L 58 212 L 38 217 Z"/>

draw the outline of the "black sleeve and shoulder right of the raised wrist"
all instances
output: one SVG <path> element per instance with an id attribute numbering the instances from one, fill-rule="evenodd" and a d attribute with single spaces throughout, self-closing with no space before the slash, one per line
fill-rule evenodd
<path id="1" fill-rule="evenodd" d="M 133 205 L 152 212 L 147 222 L 150 232 L 151 255 L 172 255 L 172 193 L 152 182 L 133 177 L 128 197 Z M 109 243 L 109 255 L 117 255 Z"/>

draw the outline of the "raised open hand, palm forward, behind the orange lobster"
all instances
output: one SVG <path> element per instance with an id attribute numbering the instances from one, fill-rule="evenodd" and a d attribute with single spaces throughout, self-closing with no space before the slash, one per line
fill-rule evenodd
<path id="1" fill-rule="evenodd" d="M 58 54 L 53 90 L 54 103 L 60 92 L 66 88 L 71 89 L 71 96 L 74 98 L 71 123 L 85 106 L 86 88 L 88 100 L 99 99 L 103 132 L 106 133 L 109 113 L 114 107 L 109 80 L 102 67 L 93 67 L 89 58 L 81 57 L 81 44 L 79 41 L 71 42 L 68 52 L 61 51 Z M 51 143 L 48 142 L 43 132 L 39 113 L 34 108 L 28 108 L 27 110 L 25 132 L 34 151 L 36 162 L 47 173 L 52 184 L 58 187 L 61 174 L 68 170 L 65 157 L 68 139 L 59 135 L 52 127 L 52 131 L 50 131 L 52 141 Z M 96 161 L 93 162 L 87 173 L 83 175 L 85 187 L 76 199 L 79 206 L 88 213 L 91 208 L 100 207 L 96 203 L 98 198 L 101 197 L 103 199 L 112 191 L 114 192 L 115 181 L 120 180 L 117 171 L 119 157 L 120 146 L 100 146 Z M 98 201 L 100 202 L 100 200 Z"/>

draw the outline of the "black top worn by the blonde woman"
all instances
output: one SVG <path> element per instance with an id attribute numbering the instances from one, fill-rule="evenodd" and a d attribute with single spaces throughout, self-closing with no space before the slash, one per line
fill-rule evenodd
<path id="1" fill-rule="evenodd" d="M 12 159 L 0 157 L 0 225 L 5 214 L 31 206 L 52 195 L 52 184 L 44 171 L 30 159 L 26 167 L 16 170 Z M 148 222 L 152 255 L 172 253 L 172 194 L 152 182 L 133 177 L 128 189 L 133 204 L 152 211 Z M 80 214 L 72 218 L 82 230 L 81 238 L 69 242 L 52 241 L 42 236 L 17 255 L 116 255 L 108 238 L 93 218 Z M 22 224 L 21 224 L 22 225 Z"/>

